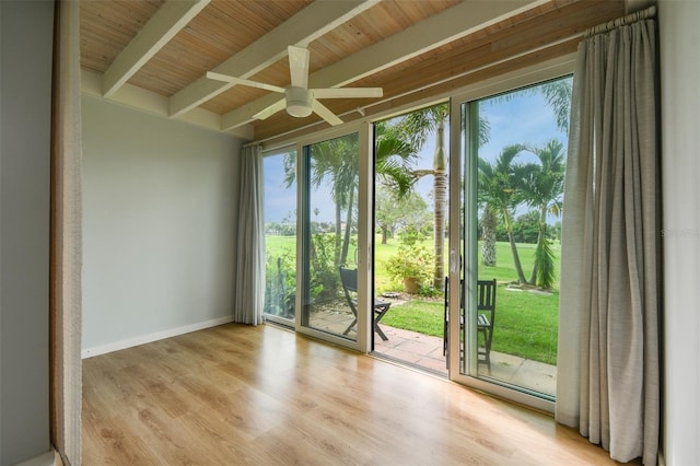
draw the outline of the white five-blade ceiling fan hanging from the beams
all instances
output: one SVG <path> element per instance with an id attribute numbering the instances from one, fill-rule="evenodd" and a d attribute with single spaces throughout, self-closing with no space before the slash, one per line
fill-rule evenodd
<path id="1" fill-rule="evenodd" d="M 282 109 L 287 109 L 287 113 L 293 117 L 306 117 L 314 112 L 330 125 L 336 126 L 340 125 L 342 120 L 318 102 L 319 98 L 381 97 L 383 95 L 382 88 L 308 89 L 308 49 L 290 45 L 288 50 L 291 74 L 291 84 L 288 88 L 234 78 L 213 71 L 207 72 L 207 78 L 284 94 L 283 98 L 253 115 L 253 118 L 256 119 L 265 119 Z"/>

